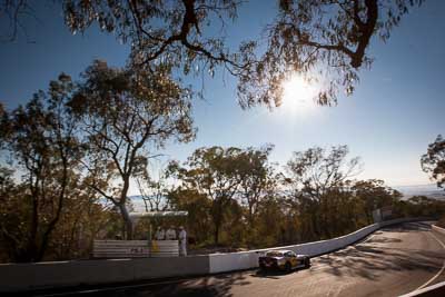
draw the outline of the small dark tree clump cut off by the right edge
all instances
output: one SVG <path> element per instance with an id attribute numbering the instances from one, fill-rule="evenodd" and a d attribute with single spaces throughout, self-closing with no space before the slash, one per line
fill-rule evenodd
<path id="1" fill-rule="evenodd" d="M 421 158 L 422 169 L 437 181 L 437 187 L 443 188 L 445 184 L 445 139 L 438 135 L 433 143 Z"/>

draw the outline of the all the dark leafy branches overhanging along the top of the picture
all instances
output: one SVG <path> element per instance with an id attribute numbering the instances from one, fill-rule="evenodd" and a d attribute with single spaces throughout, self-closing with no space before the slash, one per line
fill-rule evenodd
<path id="1" fill-rule="evenodd" d="M 165 63 L 185 75 L 198 69 L 210 76 L 218 67 L 226 69 L 238 79 L 239 102 L 249 107 L 279 105 L 283 81 L 293 73 L 325 82 L 316 97 L 320 105 L 335 103 L 340 89 L 350 95 L 359 69 L 370 66 L 372 38 L 386 41 L 408 8 L 422 2 L 280 0 L 275 20 L 264 29 L 266 40 L 246 38 L 231 49 L 221 32 L 238 18 L 243 1 L 66 0 L 63 11 L 72 32 L 97 23 L 131 43 L 131 62 L 138 68 Z M 259 43 L 267 43 L 264 52 Z"/>

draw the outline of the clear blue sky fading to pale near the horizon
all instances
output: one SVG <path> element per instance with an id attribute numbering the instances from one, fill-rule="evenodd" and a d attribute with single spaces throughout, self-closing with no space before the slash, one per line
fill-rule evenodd
<path id="1" fill-rule="evenodd" d="M 273 19 L 274 1 L 251 2 L 228 27 L 228 44 L 258 36 Z M 38 20 L 23 20 L 28 38 L 20 33 L 16 42 L 0 43 L 0 101 L 8 109 L 26 103 L 62 71 L 77 78 L 93 59 L 117 67 L 127 61 L 128 46 L 113 36 L 97 28 L 73 36 L 52 1 L 39 4 Z M 373 40 L 368 48 L 375 58 L 370 70 L 360 71 L 354 95 L 342 95 L 336 107 L 295 105 L 293 96 L 303 96 L 298 89 L 295 95 L 289 91 L 289 98 L 273 111 L 264 107 L 241 110 L 234 78 L 220 72 L 214 79 L 188 78 L 205 91 L 205 100 L 194 101 L 197 138 L 186 145 L 168 145 L 165 157 L 154 167 L 168 159 L 185 160 L 196 148 L 215 145 L 274 143 L 270 159 L 281 166 L 293 151 L 347 145 L 349 156 L 359 156 L 364 164 L 357 178 L 378 178 L 389 186 L 429 184 L 419 158 L 438 133 L 445 133 L 444 9 L 445 1 L 427 1 L 404 17 L 386 43 Z M 135 187 L 130 195 L 137 195 Z"/>

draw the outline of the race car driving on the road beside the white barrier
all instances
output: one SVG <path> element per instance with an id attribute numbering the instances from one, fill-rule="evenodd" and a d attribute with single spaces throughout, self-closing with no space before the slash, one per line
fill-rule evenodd
<path id="1" fill-rule="evenodd" d="M 296 255 L 291 250 L 269 250 L 265 256 L 258 258 L 259 268 L 261 270 L 279 269 L 290 271 L 296 268 L 308 268 L 310 258 L 307 255 Z"/>

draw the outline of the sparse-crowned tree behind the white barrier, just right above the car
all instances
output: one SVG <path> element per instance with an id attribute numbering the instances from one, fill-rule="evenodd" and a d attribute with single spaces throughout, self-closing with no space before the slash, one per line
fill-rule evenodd
<path id="1" fill-rule="evenodd" d="M 300 229 L 306 238 L 329 237 L 337 208 L 349 199 L 345 196 L 346 181 L 359 171 L 359 158 L 346 159 L 347 146 L 333 147 L 329 151 L 314 147 L 294 152 L 287 162 L 285 186 L 287 197 L 301 216 Z M 338 210 L 338 208 L 337 208 Z"/>

